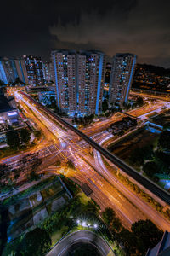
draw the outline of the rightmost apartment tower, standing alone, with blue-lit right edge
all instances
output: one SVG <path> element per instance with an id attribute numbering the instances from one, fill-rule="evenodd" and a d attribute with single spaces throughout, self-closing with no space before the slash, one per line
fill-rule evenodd
<path id="1" fill-rule="evenodd" d="M 116 54 L 113 57 L 109 106 L 122 106 L 127 103 L 129 91 L 133 82 L 133 74 L 136 64 L 136 55 Z"/>

